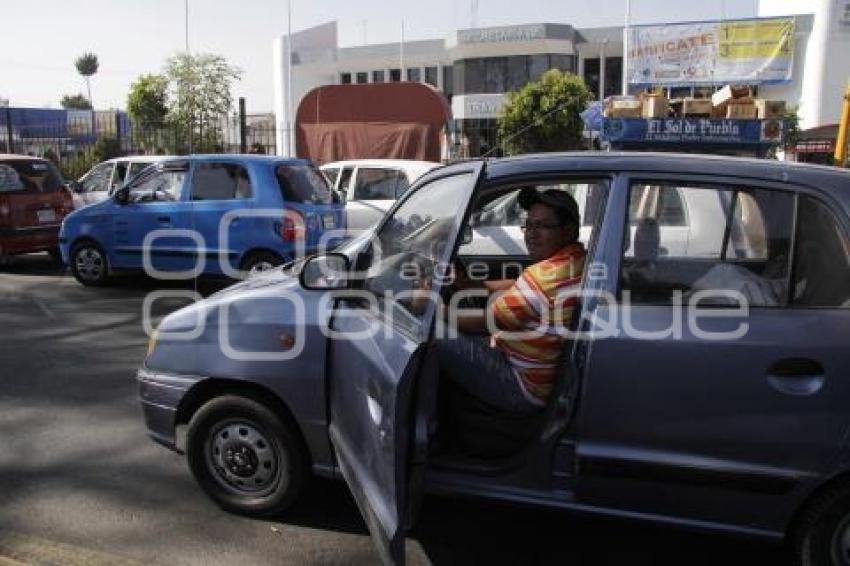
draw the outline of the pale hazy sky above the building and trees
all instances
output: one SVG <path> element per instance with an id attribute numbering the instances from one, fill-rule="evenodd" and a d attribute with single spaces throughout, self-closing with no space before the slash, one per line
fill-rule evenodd
<path id="1" fill-rule="evenodd" d="M 85 93 L 74 60 L 95 53 L 97 109 L 125 108 L 130 84 L 160 72 L 185 49 L 186 0 L 0 0 L 0 98 L 12 106 L 58 108 Z M 471 27 L 472 0 L 291 0 L 292 31 L 337 21 L 341 46 L 441 39 Z M 566 23 L 622 25 L 625 0 L 478 0 L 477 27 Z M 752 17 L 758 0 L 631 0 L 632 22 Z M 588 6 L 593 8 L 589 9 Z M 248 112 L 269 112 L 272 41 L 287 30 L 287 0 L 188 0 L 189 49 L 224 56 L 242 79 L 234 97 Z"/>

